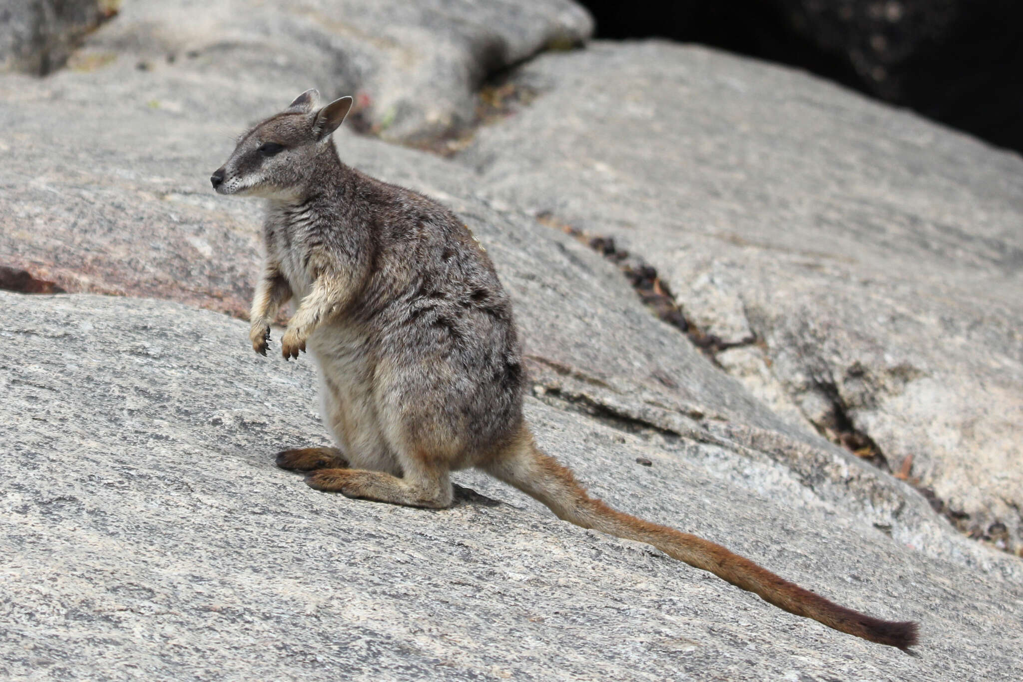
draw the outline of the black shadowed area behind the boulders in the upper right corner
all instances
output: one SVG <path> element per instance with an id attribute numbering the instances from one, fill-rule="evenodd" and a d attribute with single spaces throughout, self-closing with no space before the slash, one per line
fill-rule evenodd
<path id="1" fill-rule="evenodd" d="M 599 38 L 663 37 L 805 69 L 1023 152 L 1019 0 L 580 0 Z"/>

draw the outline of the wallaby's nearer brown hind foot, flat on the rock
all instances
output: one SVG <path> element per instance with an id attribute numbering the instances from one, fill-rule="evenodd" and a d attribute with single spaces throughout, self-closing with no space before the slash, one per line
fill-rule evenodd
<path id="1" fill-rule="evenodd" d="M 431 470 L 426 466 L 407 467 L 402 479 L 384 471 L 319 469 L 309 473 L 306 483 L 310 488 L 341 493 L 346 497 L 409 507 L 443 509 L 451 506 L 453 497 L 448 472 Z"/>

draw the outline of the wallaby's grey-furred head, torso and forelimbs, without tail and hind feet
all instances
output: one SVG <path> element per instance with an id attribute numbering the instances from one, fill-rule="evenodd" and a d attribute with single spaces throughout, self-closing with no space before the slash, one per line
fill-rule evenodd
<path id="1" fill-rule="evenodd" d="M 258 124 L 217 171 L 218 192 L 267 200 L 254 348 L 265 355 L 269 322 L 294 295 L 285 358 L 308 345 L 324 421 L 354 468 L 408 480 L 422 458 L 479 464 L 522 425 L 508 298 L 454 214 L 341 162 L 329 133 L 350 98 L 310 110 L 316 98 Z M 450 501 L 446 478 L 424 482 L 441 488 L 429 506 Z"/>

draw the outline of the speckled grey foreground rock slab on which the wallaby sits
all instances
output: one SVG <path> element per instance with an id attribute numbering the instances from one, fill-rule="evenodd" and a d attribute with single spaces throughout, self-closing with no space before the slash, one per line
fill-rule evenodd
<path id="1" fill-rule="evenodd" d="M 312 491 L 271 458 L 325 442 L 310 363 L 252 355 L 242 321 L 81 294 L 0 311 L 5 678 L 1017 679 L 1018 577 L 929 557 L 733 448 L 527 408 L 612 504 L 917 619 L 921 657 L 478 474 L 439 512 Z"/>

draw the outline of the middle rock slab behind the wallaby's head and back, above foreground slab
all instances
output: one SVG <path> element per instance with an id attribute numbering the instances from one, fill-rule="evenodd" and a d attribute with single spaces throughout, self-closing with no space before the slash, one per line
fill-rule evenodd
<path id="1" fill-rule="evenodd" d="M 139 73 L 112 64 L 41 82 L 8 80 L 0 116 L 26 143 L 0 168 L 0 260 L 69 291 L 172 298 L 243 316 L 261 209 L 214 195 L 207 178 L 231 148 L 226 115 L 236 123 L 261 102 L 253 93 L 247 101 L 229 79 L 209 82 L 223 100 L 204 102 L 190 78 L 173 65 Z M 160 106 L 139 101 L 142 87 Z M 96 101 L 97 88 L 118 104 Z M 267 112 L 282 106 L 262 105 Z M 64 117 L 76 125 L 62 127 Z M 752 448 L 750 457 L 785 462 L 825 499 L 905 542 L 958 551 L 921 498 L 907 501 L 897 482 L 779 419 L 649 315 L 614 268 L 530 211 L 475 198 L 482 189 L 471 170 L 348 133 L 339 138 L 346 161 L 440 198 L 486 240 L 517 304 L 531 311 L 520 324 L 544 391 L 673 438 L 733 441 Z"/>

